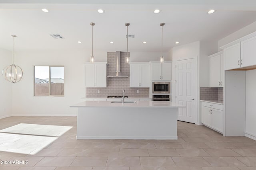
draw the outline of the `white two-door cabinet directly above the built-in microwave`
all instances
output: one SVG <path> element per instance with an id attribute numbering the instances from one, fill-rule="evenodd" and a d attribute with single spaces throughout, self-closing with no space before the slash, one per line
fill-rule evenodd
<path id="1" fill-rule="evenodd" d="M 172 80 L 172 63 L 151 63 L 152 80 Z"/>

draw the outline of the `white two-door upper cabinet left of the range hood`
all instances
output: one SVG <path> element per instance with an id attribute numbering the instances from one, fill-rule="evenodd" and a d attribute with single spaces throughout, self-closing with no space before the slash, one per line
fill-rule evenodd
<path id="1" fill-rule="evenodd" d="M 85 65 L 85 86 L 86 87 L 107 87 L 106 63 L 84 64 Z"/>

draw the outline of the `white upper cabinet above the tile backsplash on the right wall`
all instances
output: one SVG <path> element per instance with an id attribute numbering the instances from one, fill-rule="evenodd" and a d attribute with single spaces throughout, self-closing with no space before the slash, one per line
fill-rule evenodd
<path id="1" fill-rule="evenodd" d="M 224 68 L 222 52 L 210 55 L 210 87 L 223 87 Z"/>

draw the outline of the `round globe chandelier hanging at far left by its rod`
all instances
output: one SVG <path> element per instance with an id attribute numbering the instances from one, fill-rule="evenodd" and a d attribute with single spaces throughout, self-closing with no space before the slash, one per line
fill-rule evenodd
<path id="1" fill-rule="evenodd" d="M 16 35 L 12 35 L 13 37 L 13 64 L 10 66 L 6 66 L 2 70 L 2 75 L 4 78 L 11 82 L 11 83 L 16 83 L 22 80 L 24 72 L 20 66 L 17 66 L 14 64 L 14 38 L 17 37 Z"/>

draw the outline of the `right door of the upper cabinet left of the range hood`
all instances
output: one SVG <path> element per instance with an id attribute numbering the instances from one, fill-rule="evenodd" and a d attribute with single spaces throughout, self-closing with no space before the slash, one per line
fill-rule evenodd
<path id="1" fill-rule="evenodd" d="M 107 87 L 106 64 L 95 64 L 95 87 Z"/>

